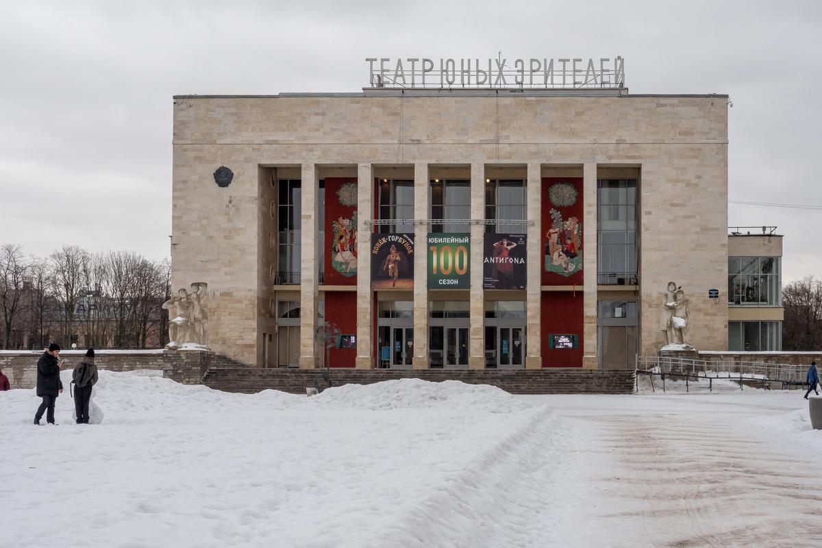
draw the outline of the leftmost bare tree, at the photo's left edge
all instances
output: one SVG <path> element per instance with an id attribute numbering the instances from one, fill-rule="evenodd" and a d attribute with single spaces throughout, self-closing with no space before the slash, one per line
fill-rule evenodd
<path id="1" fill-rule="evenodd" d="M 29 265 L 21 246 L 10 243 L 0 247 L 0 312 L 2 312 L 3 347 L 20 348 L 23 329 L 19 315 L 25 307 L 23 298 Z"/>

